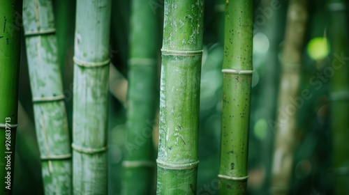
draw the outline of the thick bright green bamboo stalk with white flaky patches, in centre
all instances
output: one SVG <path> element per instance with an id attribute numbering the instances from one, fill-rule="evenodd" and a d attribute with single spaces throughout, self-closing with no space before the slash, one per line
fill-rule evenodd
<path id="1" fill-rule="evenodd" d="M 157 194 L 196 194 L 202 0 L 165 0 Z"/>

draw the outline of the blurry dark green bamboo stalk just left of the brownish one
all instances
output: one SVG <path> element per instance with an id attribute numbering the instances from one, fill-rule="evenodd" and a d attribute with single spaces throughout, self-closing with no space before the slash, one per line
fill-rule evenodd
<path id="1" fill-rule="evenodd" d="M 272 5 L 274 0 L 268 0 L 266 5 Z M 285 5 L 285 3 L 284 3 Z M 281 5 L 280 5 L 281 6 Z M 267 52 L 265 64 L 260 70 L 260 95 L 258 95 L 258 109 L 259 111 L 255 115 L 253 124 L 257 121 L 265 121 L 265 123 L 271 123 L 276 118 L 275 102 L 277 102 L 277 94 L 279 88 L 279 45 L 283 38 L 284 22 L 283 14 L 285 13 L 285 7 L 282 6 L 279 10 L 273 10 L 272 17 L 267 20 L 265 26 L 260 26 L 260 31 L 267 36 L 270 47 Z M 268 8 L 268 7 L 267 7 Z M 272 9 L 272 8 L 269 8 Z M 265 132 L 265 138 L 261 140 L 260 148 L 260 162 L 265 168 L 265 178 L 262 185 L 256 189 L 256 192 L 267 192 L 270 186 L 270 177 L 272 170 L 272 155 L 274 147 L 274 129 L 269 126 L 267 132 Z"/>

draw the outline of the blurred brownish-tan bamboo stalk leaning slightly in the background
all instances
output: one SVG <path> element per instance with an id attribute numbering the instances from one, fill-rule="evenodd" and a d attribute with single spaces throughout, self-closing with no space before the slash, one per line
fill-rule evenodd
<path id="1" fill-rule="evenodd" d="M 278 116 L 272 166 L 272 194 L 288 194 L 295 153 L 295 131 L 299 92 L 302 48 L 306 31 L 306 3 L 292 0 L 288 8 L 285 41 L 281 61 Z"/>

